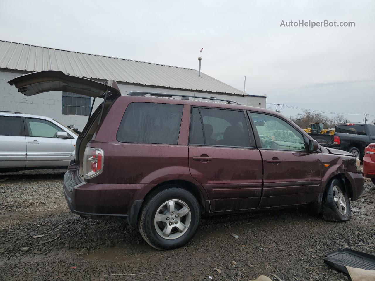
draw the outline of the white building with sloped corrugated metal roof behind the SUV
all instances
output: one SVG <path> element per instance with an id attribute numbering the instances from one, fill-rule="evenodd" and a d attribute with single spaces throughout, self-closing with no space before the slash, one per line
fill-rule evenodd
<path id="1" fill-rule="evenodd" d="M 0 111 L 54 118 L 82 129 L 92 100 L 63 92 L 25 97 L 7 81 L 34 71 L 60 70 L 96 81 L 117 81 L 122 94 L 145 91 L 216 97 L 266 108 L 266 95 L 249 95 L 198 70 L 0 40 Z M 94 108 L 99 104 L 95 102 Z"/>

